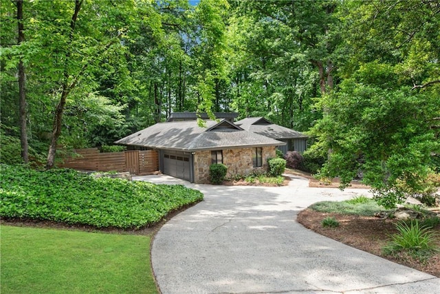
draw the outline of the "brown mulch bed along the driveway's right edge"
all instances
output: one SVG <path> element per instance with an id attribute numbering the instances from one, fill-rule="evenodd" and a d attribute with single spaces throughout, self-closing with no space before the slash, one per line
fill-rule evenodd
<path id="1" fill-rule="evenodd" d="M 321 221 L 327 216 L 334 216 L 340 223 L 336 228 L 322 227 Z M 347 216 L 336 213 L 322 213 L 311 209 L 305 209 L 298 214 L 297 218 L 304 227 L 325 235 L 333 240 L 342 242 L 362 251 L 378 255 L 387 260 L 409 266 L 412 269 L 423 271 L 440 277 L 440 252 L 432 255 L 428 260 L 421 262 L 408 255 L 385 256 L 382 247 L 386 245 L 389 236 L 396 233 L 395 220 L 381 220 L 375 217 Z M 436 244 L 440 248 L 440 227 L 435 229 Z"/>

